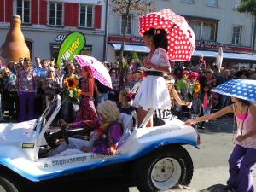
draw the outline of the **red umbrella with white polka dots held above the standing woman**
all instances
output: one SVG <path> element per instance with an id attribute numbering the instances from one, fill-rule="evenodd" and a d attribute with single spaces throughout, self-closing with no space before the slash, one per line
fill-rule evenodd
<path id="1" fill-rule="evenodd" d="M 195 50 L 195 34 L 183 16 L 170 9 L 163 9 L 139 17 L 139 26 L 141 35 L 150 28 L 165 29 L 169 59 L 190 61 Z"/>

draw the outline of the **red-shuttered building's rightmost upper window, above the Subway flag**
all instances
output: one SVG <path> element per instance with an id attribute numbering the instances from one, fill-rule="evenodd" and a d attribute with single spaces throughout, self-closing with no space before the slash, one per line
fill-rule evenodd
<path id="1" fill-rule="evenodd" d="M 79 26 L 92 28 L 94 26 L 94 6 L 80 4 Z"/>

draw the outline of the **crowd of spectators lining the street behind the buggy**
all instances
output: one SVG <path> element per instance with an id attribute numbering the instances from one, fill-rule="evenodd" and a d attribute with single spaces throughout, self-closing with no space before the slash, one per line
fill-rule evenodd
<path id="1" fill-rule="evenodd" d="M 95 106 L 108 99 L 121 103 L 125 96 L 131 100 L 131 96 L 128 96 L 129 90 L 134 89 L 136 84 L 143 80 L 141 62 L 130 60 L 127 67 L 123 69 L 118 67 L 118 63 L 103 62 L 103 64 L 108 68 L 113 89 L 109 89 L 95 79 L 93 94 Z M 218 70 L 214 63 L 207 65 L 202 58 L 196 64 L 184 64 L 181 61 L 172 62 L 171 66 L 172 72 L 168 76 L 172 77 L 172 84 L 177 90 L 175 95 L 184 103 L 191 102 L 192 104 L 190 108 L 187 108 L 187 104 L 183 106 L 181 102 L 174 100 L 172 113 L 177 116 L 183 116 L 184 112 L 189 113 L 190 118 L 224 108 L 230 103 L 228 96 L 220 96 L 210 91 L 218 84 L 230 79 L 256 79 L 255 69 L 247 70 L 241 67 L 238 70 L 221 67 Z M 81 67 L 78 63 L 64 61 L 63 66 L 59 67 L 54 60 L 41 61 L 39 57 L 36 57 L 34 62 L 29 58 L 20 58 L 18 63 L 9 62 L 6 67 L 1 68 L 0 121 L 21 122 L 37 118 L 49 105 L 49 101 L 61 92 L 63 79 L 69 76 L 76 76 L 78 79 L 81 77 Z M 119 96 L 120 92 L 124 98 Z M 75 119 L 74 108 L 67 105 L 62 107 L 61 112 L 60 118 L 67 122 L 73 122 Z"/>

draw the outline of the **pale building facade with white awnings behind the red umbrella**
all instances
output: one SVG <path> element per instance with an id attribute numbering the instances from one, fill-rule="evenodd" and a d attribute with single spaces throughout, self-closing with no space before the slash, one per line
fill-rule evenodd
<path id="1" fill-rule="evenodd" d="M 251 15 L 236 12 L 239 0 L 156 0 L 155 8 L 172 9 L 183 15 L 195 32 L 196 49 L 194 56 L 204 55 L 214 61 L 219 47 L 224 49 L 224 62 L 256 63 L 253 53 L 253 18 Z M 118 55 L 121 44 L 122 25 L 125 17 L 112 13 L 108 21 L 108 61 Z M 137 50 L 147 52 L 143 48 L 142 36 L 138 33 L 138 15 L 131 13 L 128 19 L 126 52 Z M 132 47 L 134 46 L 134 49 Z M 255 46 L 254 46 L 255 48 Z M 256 51 L 254 51 L 256 52 Z M 230 63 L 230 64 L 229 64 Z"/>

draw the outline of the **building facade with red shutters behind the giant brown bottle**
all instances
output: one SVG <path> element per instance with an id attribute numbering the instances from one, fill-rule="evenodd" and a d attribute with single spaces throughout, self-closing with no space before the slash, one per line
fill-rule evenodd
<path id="1" fill-rule="evenodd" d="M 86 38 L 82 53 L 102 60 L 104 3 L 96 0 L 0 0 L 0 4 L 0 44 L 9 31 L 11 15 L 18 14 L 32 58 L 56 58 L 63 39 L 69 32 L 76 31 L 84 33 Z"/>

